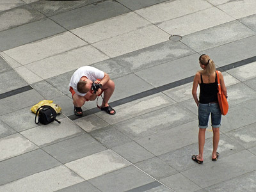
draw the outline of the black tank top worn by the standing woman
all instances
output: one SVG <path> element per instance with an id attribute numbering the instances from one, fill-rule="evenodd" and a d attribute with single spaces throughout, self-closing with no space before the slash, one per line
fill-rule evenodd
<path id="1" fill-rule="evenodd" d="M 218 102 L 218 80 L 217 74 L 215 72 L 215 82 L 214 83 L 204 83 L 202 74 L 199 93 L 199 102 L 202 104 L 207 104 L 210 102 Z"/>

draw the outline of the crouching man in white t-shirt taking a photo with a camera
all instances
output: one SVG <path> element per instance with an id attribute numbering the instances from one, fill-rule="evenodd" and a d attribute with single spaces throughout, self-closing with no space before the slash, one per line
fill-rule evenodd
<path id="1" fill-rule="evenodd" d="M 93 82 L 98 84 L 97 91 L 92 90 Z M 75 115 L 82 116 L 83 110 L 81 107 L 84 103 L 89 100 L 95 100 L 102 93 L 103 100 L 100 109 L 110 115 L 115 115 L 116 111 L 108 104 L 115 90 L 115 83 L 106 72 L 90 66 L 80 67 L 71 77 L 69 86 L 69 90 L 72 93 Z"/>

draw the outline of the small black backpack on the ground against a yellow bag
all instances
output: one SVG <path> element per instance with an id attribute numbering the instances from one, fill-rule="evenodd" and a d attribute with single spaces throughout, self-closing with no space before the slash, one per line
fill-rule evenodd
<path id="1" fill-rule="evenodd" d="M 47 125 L 53 121 L 56 121 L 60 124 L 60 121 L 56 119 L 57 113 L 54 110 L 54 108 L 52 108 L 51 106 L 41 106 L 36 111 L 36 116 L 37 115 L 38 115 L 38 122 L 36 122 L 36 117 L 35 117 L 36 124 L 41 123 L 41 124 Z"/>

